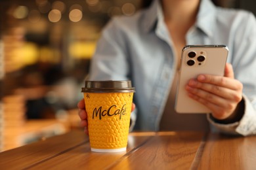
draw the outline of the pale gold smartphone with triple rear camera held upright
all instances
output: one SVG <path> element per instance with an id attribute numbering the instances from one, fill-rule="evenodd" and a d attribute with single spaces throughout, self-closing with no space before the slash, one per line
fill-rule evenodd
<path id="1" fill-rule="evenodd" d="M 228 47 L 225 45 L 184 46 L 175 98 L 175 110 L 177 112 L 211 112 L 205 105 L 191 99 L 185 86 L 190 78 L 196 78 L 200 74 L 223 76 L 227 57 Z"/>

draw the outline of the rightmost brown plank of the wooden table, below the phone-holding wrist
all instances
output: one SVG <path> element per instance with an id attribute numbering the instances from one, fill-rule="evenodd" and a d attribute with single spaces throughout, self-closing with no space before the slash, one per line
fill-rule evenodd
<path id="1" fill-rule="evenodd" d="M 210 134 L 198 169 L 256 169 L 256 137 Z"/>

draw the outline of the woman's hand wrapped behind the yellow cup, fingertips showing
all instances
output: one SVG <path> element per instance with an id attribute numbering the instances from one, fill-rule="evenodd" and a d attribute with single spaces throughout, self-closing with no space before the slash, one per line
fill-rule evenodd
<path id="1" fill-rule="evenodd" d="M 78 104 L 78 115 L 81 119 L 81 127 L 84 128 L 84 131 L 87 135 L 89 135 L 89 131 L 88 131 L 88 122 L 87 122 L 87 112 L 85 111 L 85 100 L 81 99 Z M 135 110 L 135 104 L 133 103 L 132 107 L 131 107 L 131 111 L 133 112 L 133 110 Z"/>

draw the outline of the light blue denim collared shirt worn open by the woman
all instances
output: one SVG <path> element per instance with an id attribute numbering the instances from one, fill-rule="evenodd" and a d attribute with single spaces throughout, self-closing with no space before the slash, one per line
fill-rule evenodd
<path id="1" fill-rule="evenodd" d="M 202 0 L 187 44 L 225 44 L 236 79 L 244 84 L 245 114 L 240 122 L 217 124 L 227 133 L 256 133 L 256 21 L 251 12 L 215 7 Z M 171 89 L 177 61 L 163 21 L 160 1 L 133 16 L 106 25 L 91 63 L 91 80 L 127 80 L 136 88 L 137 129 L 157 131 Z"/>

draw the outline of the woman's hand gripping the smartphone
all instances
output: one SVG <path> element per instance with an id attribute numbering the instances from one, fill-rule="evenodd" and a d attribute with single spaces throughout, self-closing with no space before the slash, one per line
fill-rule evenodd
<path id="1" fill-rule="evenodd" d="M 186 86 L 188 95 L 208 107 L 218 120 L 235 113 L 242 100 L 242 89 L 243 85 L 234 79 L 234 71 L 229 63 L 226 63 L 224 76 L 199 75 Z"/>

